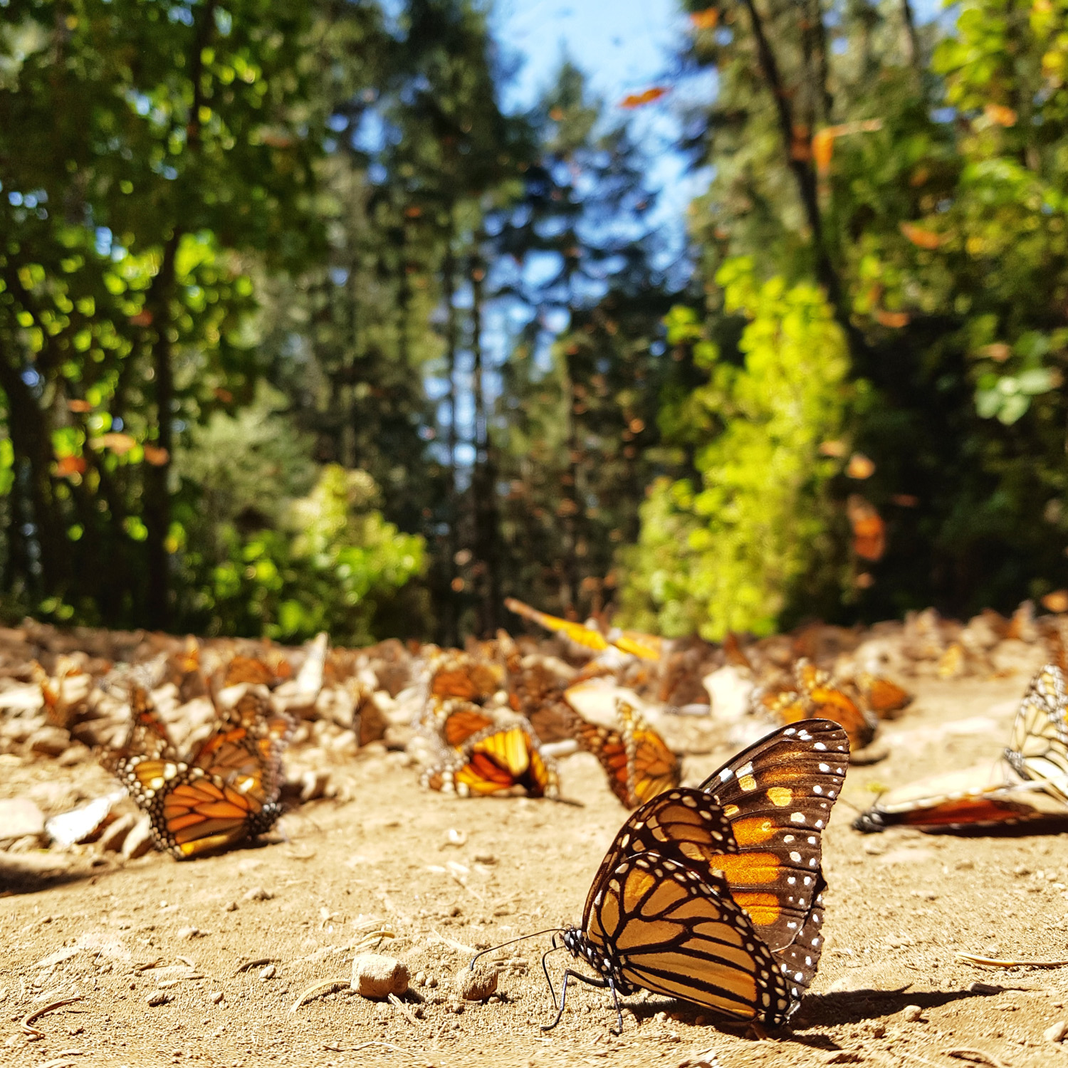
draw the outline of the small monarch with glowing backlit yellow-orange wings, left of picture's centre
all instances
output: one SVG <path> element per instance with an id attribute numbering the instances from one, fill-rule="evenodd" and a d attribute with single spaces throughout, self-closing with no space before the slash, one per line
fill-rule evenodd
<path id="1" fill-rule="evenodd" d="M 538 744 L 525 720 L 490 724 L 462 741 L 458 752 L 423 773 L 423 785 L 459 797 L 485 797 L 524 790 L 530 797 L 556 798 L 555 764 Z"/>

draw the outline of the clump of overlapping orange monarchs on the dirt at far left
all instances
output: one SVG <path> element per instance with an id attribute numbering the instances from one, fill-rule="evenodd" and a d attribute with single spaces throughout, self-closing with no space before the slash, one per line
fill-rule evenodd
<path id="1" fill-rule="evenodd" d="M 256 719 L 246 703 L 182 758 L 140 686 L 130 687 L 130 714 L 124 744 L 104 754 L 101 764 L 148 814 L 159 850 L 188 860 L 273 826 L 282 813 L 281 755 L 292 729 L 286 717 Z"/>

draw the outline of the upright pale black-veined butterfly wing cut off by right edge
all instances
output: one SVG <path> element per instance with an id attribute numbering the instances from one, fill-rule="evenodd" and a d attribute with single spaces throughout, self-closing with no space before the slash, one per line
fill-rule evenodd
<path id="1" fill-rule="evenodd" d="M 1068 685 L 1056 664 L 1032 678 L 1012 724 L 1005 759 L 1023 779 L 1035 780 L 1068 802 Z"/>

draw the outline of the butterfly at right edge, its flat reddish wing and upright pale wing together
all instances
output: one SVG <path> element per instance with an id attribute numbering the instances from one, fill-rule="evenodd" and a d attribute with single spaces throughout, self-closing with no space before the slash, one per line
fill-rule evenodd
<path id="1" fill-rule="evenodd" d="M 1068 686 L 1056 664 L 1032 678 L 1004 755 L 890 790 L 853 820 L 873 833 L 892 823 L 967 830 L 1068 818 Z"/>

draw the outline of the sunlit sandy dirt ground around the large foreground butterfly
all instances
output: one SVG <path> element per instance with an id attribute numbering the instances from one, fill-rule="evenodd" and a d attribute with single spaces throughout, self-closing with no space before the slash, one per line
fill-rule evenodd
<path id="1" fill-rule="evenodd" d="M 756 1037 L 639 994 L 613 1037 L 608 995 L 579 987 L 543 1034 L 546 938 L 501 951 L 498 994 L 461 1003 L 453 976 L 472 949 L 579 918 L 625 813 L 586 754 L 561 764 L 577 804 L 461 800 L 422 789 L 410 758 L 379 743 L 333 769 L 347 800 L 287 815 L 284 837 L 191 863 L 87 853 L 62 879 L 10 885 L 0 1064 L 678 1066 L 709 1050 L 724 1068 L 1068 1064 L 1043 1038 L 1068 1019 L 1068 968 L 991 972 L 955 957 L 1068 958 L 1068 839 L 849 826 L 849 804 L 867 807 L 880 787 L 995 756 L 1025 684 L 1020 673 L 921 681 L 882 727 L 889 757 L 850 770 L 826 835 L 827 948 L 789 1030 Z M 665 733 L 695 784 L 731 753 L 710 724 L 676 723 Z M 89 761 L 0 756 L 3 798 L 109 788 Z M 371 921 L 410 970 L 403 1003 L 341 989 L 293 1010 L 313 984 L 347 981 Z M 564 956 L 550 958 L 556 976 Z M 44 1037 L 25 1033 L 29 1014 L 67 999 L 78 1000 L 32 1022 Z"/>

